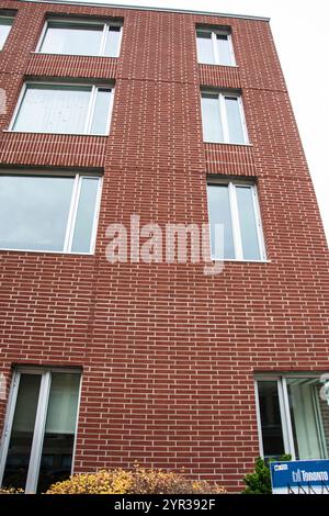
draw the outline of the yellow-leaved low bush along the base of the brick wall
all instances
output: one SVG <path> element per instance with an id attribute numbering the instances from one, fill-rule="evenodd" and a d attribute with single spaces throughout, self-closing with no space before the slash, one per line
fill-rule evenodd
<path id="1" fill-rule="evenodd" d="M 77 474 L 52 485 L 46 494 L 206 494 L 225 493 L 224 487 L 204 480 L 192 481 L 183 473 L 146 469 L 134 464 L 134 470 L 100 470 Z"/>

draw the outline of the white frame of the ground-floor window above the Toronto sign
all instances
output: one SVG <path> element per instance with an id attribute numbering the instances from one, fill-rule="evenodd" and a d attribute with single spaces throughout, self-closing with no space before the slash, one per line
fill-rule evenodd
<path id="1" fill-rule="evenodd" d="M 291 455 L 292 460 L 296 460 L 296 450 L 293 435 L 293 425 L 290 411 L 290 400 L 287 392 L 287 380 L 290 378 L 300 378 L 300 379 L 318 379 L 321 374 L 317 373 L 287 373 L 287 374 L 259 374 L 254 378 L 254 392 L 256 392 L 256 411 L 257 411 L 257 427 L 259 436 L 259 451 L 260 456 L 264 457 L 263 449 L 263 437 L 262 437 L 262 425 L 261 425 L 261 413 L 260 413 L 260 403 L 259 403 L 259 391 L 258 382 L 264 381 L 275 381 L 277 384 L 277 394 L 279 394 L 279 406 L 280 406 L 280 416 L 282 424 L 282 435 L 283 435 L 283 445 L 284 453 Z M 320 457 L 319 457 L 320 459 Z"/>

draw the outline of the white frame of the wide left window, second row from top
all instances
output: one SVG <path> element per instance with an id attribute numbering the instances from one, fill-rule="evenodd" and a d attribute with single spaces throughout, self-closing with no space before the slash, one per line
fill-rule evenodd
<path id="1" fill-rule="evenodd" d="M 89 105 L 87 109 L 87 116 L 86 116 L 86 122 L 84 122 L 84 128 L 82 133 L 54 133 L 54 132 L 46 132 L 46 131 L 16 131 L 14 128 L 14 124 L 16 122 L 16 119 L 19 116 L 22 103 L 25 98 L 25 92 L 29 88 L 29 86 L 55 86 L 60 89 L 60 86 L 71 86 L 72 88 L 75 87 L 90 87 L 90 99 L 89 99 Z M 97 94 L 99 90 L 111 90 L 111 98 L 110 98 L 110 109 L 109 109 L 109 114 L 107 114 L 107 120 L 106 120 L 106 127 L 104 134 L 93 134 L 91 133 L 91 126 L 92 126 L 92 121 L 93 121 L 93 115 L 94 115 L 94 109 L 95 109 L 95 101 L 97 101 Z M 111 130 L 111 120 L 112 120 L 112 111 L 113 111 L 113 102 L 114 102 L 114 86 L 112 85 L 89 85 L 87 82 L 45 82 L 45 81 L 32 81 L 32 80 L 26 80 L 23 83 L 23 87 L 21 89 L 21 92 L 19 94 L 19 99 L 15 105 L 15 109 L 13 111 L 12 119 L 10 121 L 9 127 L 7 132 L 12 132 L 12 133 L 29 133 L 29 134 L 69 134 L 69 135 L 88 135 L 88 136 L 109 136 L 110 130 Z"/>

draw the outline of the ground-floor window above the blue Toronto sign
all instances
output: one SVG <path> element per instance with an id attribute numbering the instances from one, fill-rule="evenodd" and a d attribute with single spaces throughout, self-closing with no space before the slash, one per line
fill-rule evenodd
<path id="1" fill-rule="evenodd" d="M 326 379 L 327 380 L 326 380 Z M 262 377 L 257 380 L 261 453 L 328 459 L 328 374 Z"/>

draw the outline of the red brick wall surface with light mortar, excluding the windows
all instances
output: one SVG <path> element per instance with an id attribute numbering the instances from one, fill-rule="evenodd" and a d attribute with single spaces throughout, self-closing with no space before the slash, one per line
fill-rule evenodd
<path id="1" fill-rule="evenodd" d="M 256 371 L 328 370 L 328 259 L 269 24 L 1 1 L 8 128 L 24 76 L 115 80 L 109 137 L 0 133 L 5 166 L 103 167 L 94 256 L 0 253 L 1 371 L 82 366 L 75 471 L 184 467 L 237 490 L 259 453 Z M 118 59 L 32 54 L 45 15 L 124 18 Z M 195 23 L 232 27 L 237 69 L 197 65 Z M 200 87 L 241 88 L 252 146 L 204 144 Z M 207 222 L 206 175 L 258 181 L 269 262 L 109 265 L 105 228 Z M 5 401 L 0 403 L 1 416 Z"/>

